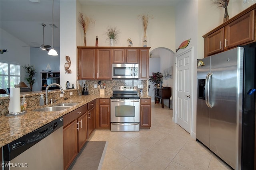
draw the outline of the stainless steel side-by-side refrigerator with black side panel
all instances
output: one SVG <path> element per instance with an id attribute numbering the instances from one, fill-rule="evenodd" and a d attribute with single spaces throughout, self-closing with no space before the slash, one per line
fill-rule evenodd
<path id="1" fill-rule="evenodd" d="M 237 47 L 198 59 L 196 139 L 235 170 L 254 169 L 255 58 Z"/>

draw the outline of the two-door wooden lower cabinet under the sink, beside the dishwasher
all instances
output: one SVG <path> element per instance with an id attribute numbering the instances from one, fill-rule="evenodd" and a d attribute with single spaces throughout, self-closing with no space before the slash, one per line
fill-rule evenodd
<path id="1" fill-rule="evenodd" d="M 65 170 L 70 167 L 88 139 L 87 117 L 87 104 L 63 116 L 63 161 Z"/>

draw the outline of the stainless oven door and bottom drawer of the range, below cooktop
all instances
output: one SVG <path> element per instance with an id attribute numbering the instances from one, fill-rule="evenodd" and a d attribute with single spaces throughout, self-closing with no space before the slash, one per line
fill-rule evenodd
<path id="1" fill-rule="evenodd" d="M 111 131 L 140 130 L 140 100 L 111 99 Z"/>

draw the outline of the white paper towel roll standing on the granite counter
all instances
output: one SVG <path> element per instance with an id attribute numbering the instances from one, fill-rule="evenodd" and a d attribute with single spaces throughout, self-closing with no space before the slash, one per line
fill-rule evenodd
<path id="1" fill-rule="evenodd" d="M 10 88 L 9 113 L 20 112 L 20 88 Z"/>

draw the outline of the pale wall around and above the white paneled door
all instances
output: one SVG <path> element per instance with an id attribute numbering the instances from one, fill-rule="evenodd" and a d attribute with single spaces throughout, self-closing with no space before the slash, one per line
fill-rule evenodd
<path id="1" fill-rule="evenodd" d="M 192 90 L 191 90 L 191 102 L 192 102 L 192 116 L 191 116 L 191 136 L 196 138 L 196 59 L 198 56 L 198 1 L 180 1 L 176 8 L 176 48 L 187 39 L 190 39 L 188 47 L 185 49 L 180 49 L 177 51 L 176 55 L 190 49 L 194 48 L 192 55 Z M 203 49 L 203 47 L 202 47 Z M 175 57 L 174 57 L 175 60 Z M 175 82 L 175 66 L 173 68 L 174 82 Z M 175 99 L 175 85 L 174 85 L 174 94 Z M 173 104 L 173 110 L 175 111 L 175 100 Z M 173 120 L 175 116 L 173 113 Z"/>

